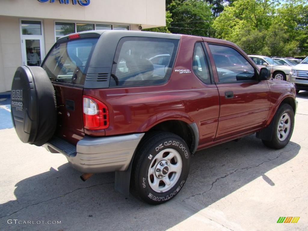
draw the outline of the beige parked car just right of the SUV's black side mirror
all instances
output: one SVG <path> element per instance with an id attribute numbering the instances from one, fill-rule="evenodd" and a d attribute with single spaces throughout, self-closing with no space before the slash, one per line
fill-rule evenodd
<path id="1" fill-rule="evenodd" d="M 286 81 L 289 80 L 289 74 L 292 67 L 282 65 L 281 63 L 278 63 L 274 59 L 267 56 L 262 56 L 262 55 L 248 55 L 248 56 L 259 67 L 266 67 L 268 70 L 270 70 L 272 77 L 274 79 L 280 79 Z"/>

